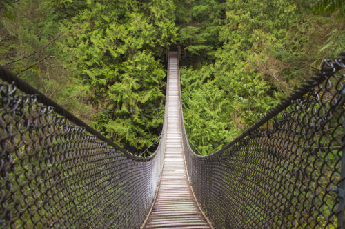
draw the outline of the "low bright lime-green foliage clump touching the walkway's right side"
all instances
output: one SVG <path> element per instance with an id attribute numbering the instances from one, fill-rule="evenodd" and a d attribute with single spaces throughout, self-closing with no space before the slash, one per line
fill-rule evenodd
<path id="1" fill-rule="evenodd" d="M 182 103 L 188 138 L 202 155 L 221 148 L 236 131 L 228 131 L 233 121 L 228 117 L 230 101 L 226 92 L 215 86 L 213 67 L 201 70 L 181 69 Z M 195 149 L 193 149 L 195 150 Z M 197 152 L 195 150 L 195 152 Z"/>

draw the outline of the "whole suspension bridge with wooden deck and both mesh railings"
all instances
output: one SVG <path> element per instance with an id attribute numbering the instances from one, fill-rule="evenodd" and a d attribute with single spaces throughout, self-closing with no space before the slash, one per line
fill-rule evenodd
<path id="1" fill-rule="evenodd" d="M 163 130 L 139 157 L 0 67 L 2 228 L 344 228 L 345 53 L 213 154 L 184 129 L 168 52 Z"/>

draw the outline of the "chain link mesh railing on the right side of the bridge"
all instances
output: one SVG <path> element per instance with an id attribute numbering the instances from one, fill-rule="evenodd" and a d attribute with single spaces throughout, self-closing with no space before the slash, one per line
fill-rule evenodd
<path id="1" fill-rule="evenodd" d="M 182 128 L 190 183 L 217 228 L 345 227 L 344 63 L 327 60 L 211 155 L 196 155 Z"/>

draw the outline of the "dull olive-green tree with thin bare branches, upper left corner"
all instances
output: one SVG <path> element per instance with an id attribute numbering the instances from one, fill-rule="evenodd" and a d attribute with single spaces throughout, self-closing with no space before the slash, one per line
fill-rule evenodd
<path id="1" fill-rule="evenodd" d="M 9 3 L 11 7 L 1 14 L 0 64 L 71 112 L 91 121 L 88 86 L 64 66 L 63 34 L 54 3 L 46 0 Z M 9 14 L 12 16 L 8 17 Z"/>

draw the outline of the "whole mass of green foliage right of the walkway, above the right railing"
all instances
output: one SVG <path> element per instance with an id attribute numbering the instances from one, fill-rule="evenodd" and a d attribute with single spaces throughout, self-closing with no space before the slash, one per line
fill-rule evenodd
<path id="1" fill-rule="evenodd" d="M 181 26 L 179 41 L 189 44 L 186 50 L 193 55 L 204 57 L 209 52 L 214 56 L 212 61 L 200 58 L 194 70 L 181 70 L 186 130 L 203 154 L 217 150 L 225 139 L 255 123 L 299 86 L 312 74 L 310 66 L 320 63 L 312 58 L 326 50 L 326 56 L 332 57 L 344 48 L 344 23 L 335 26 L 331 17 L 315 17 L 308 11 L 310 3 L 229 0 L 189 4 L 190 20 Z M 211 8 L 220 11 L 207 15 Z M 219 15 L 224 20 L 217 21 Z M 211 135 L 213 130 L 217 131 Z"/>

